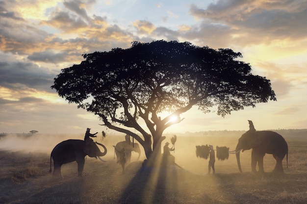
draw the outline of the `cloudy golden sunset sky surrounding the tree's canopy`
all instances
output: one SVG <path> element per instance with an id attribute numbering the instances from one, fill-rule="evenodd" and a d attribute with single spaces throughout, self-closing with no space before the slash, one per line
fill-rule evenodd
<path id="1" fill-rule="evenodd" d="M 277 101 L 226 117 L 193 107 L 165 132 L 307 128 L 307 0 L 0 0 L 0 133 L 111 132 L 51 89 L 82 54 L 177 40 L 241 52 Z"/>

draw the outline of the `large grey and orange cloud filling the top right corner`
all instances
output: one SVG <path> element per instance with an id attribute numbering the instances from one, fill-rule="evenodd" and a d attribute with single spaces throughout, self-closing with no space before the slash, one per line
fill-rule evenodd
<path id="1" fill-rule="evenodd" d="M 204 23 L 227 25 L 235 30 L 232 34 L 245 43 L 249 39 L 251 44 L 270 43 L 272 39 L 303 39 L 307 33 L 306 1 L 219 0 L 205 9 L 192 4 L 190 14 Z"/>

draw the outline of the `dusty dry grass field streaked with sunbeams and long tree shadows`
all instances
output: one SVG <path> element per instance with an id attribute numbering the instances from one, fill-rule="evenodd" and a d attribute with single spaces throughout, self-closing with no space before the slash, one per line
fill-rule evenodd
<path id="1" fill-rule="evenodd" d="M 102 142 L 108 153 L 102 163 L 86 158 L 84 178 L 77 177 L 77 163 L 62 166 L 63 179 L 49 174 L 50 153 L 64 136 L 33 135 L 26 139 L 8 135 L 0 140 L 1 204 L 306 204 L 307 135 L 285 138 L 289 147 L 288 168 L 272 175 L 275 160 L 264 157 L 264 175 L 251 173 L 251 151 L 241 153 L 243 173 L 235 155 L 216 159 L 215 175 L 207 175 L 208 160 L 196 157 L 196 145 L 227 146 L 234 150 L 240 135 L 179 136 L 175 153 L 177 166 L 167 169 L 141 168 L 142 160 L 132 162 L 122 174 L 114 160 L 112 145 L 124 137 L 108 136 Z M 70 136 L 82 139 L 82 135 Z M 170 141 L 167 137 L 166 141 Z M 52 168 L 53 170 L 53 168 Z"/>

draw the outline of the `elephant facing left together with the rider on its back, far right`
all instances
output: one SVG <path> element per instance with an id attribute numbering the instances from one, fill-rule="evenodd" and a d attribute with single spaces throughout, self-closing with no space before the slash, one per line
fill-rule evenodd
<path id="1" fill-rule="evenodd" d="M 288 167 L 288 145 L 284 138 L 274 131 L 256 131 L 253 122 L 250 122 L 250 130 L 245 132 L 238 141 L 235 148 L 236 159 L 239 171 L 242 173 L 240 164 L 240 151 L 252 149 L 252 172 L 256 172 L 256 164 L 258 163 L 259 173 L 264 173 L 263 157 L 266 153 L 273 154 L 276 159 L 276 165 L 273 173 L 283 173 L 282 160 L 286 155 Z M 252 126 L 251 126 L 252 124 Z"/>

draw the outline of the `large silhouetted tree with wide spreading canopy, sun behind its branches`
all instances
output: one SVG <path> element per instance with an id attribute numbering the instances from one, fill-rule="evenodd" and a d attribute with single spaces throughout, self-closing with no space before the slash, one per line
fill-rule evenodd
<path id="1" fill-rule="evenodd" d="M 147 158 L 160 152 L 163 131 L 180 123 L 179 115 L 193 105 L 204 113 L 216 109 L 224 117 L 276 100 L 270 80 L 252 75 L 251 66 L 238 60 L 241 53 L 230 49 L 161 40 L 83 57 L 80 64 L 62 69 L 51 88 L 98 115 L 107 128 L 132 136 Z M 163 111 L 169 113 L 165 118 Z"/>

